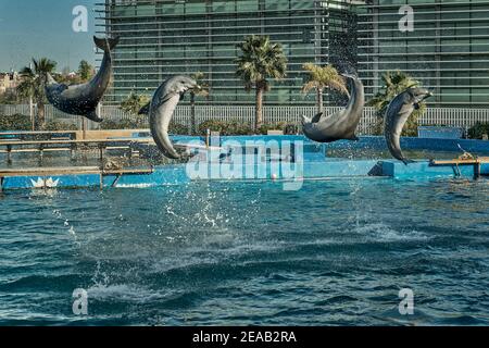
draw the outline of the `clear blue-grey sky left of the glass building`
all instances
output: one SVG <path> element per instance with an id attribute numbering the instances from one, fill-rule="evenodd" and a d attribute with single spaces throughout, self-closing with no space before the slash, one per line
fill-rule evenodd
<path id="1" fill-rule="evenodd" d="M 43 57 L 57 61 L 60 72 L 76 71 L 80 60 L 95 65 L 96 2 L 103 0 L 0 0 L 0 72 L 18 71 Z M 73 30 L 77 5 L 88 10 L 86 33 Z"/>

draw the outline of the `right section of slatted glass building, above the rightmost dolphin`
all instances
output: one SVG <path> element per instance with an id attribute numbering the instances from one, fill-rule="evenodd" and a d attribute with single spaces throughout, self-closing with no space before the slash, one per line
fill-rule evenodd
<path id="1" fill-rule="evenodd" d="M 489 107 L 489 1 L 373 0 L 356 11 L 367 97 L 383 74 L 402 70 L 435 90 L 432 107 Z M 401 32 L 399 22 L 411 13 L 413 30 Z"/>

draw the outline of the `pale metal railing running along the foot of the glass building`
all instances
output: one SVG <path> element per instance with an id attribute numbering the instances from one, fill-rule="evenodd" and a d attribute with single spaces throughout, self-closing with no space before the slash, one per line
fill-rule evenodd
<path id="1" fill-rule="evenodd" d="M 341 108 L 327 107 L 325 112 L 333 114 Z M 34 110 L 36 112 L 36 110 Z M 2 115 L 23 114 L 29 115 L 28 104 L 0 104 L 0 117 Z M 302 115 L 312 117 L 316 114 L 315 107 L 264 107 L 263 119 L 266 124 L 296 124 L 300 125 Z M 100 107 L 100 115 L 106 120 L 116 123 L 139 121 L 142 126 L 148 126 L 147 116 L 135 116 L 125 113 L 116 105 Z M 142 120 L 142 122 L 141 122 Z M 201 124 L 209 120 L 218 120 L 224 122 L 238 122 L 242 124 L 253 124 L 254 107 L 238 107 L 238 105 L 197 105 L 196 107 L 196 122 Z M 64 122 L 74 124 L 82 128 L 82 117 L 65 114 L 52 105 L 46 105 L 46 121 L 47 122 Z M 174 123 L 181 126 L 190 127 L 191 124 L 191 108 L 189 105 L 180 105 L 176 109 Z M 359 126 L 359 135 L 372 135 L 378 119 L 375 109 L 365 108 L 364 115 Z M 419 120 L 419 125 L 440 125 L 440 126 L 455 126 L 468 129 L 477 122 L 489 123 L 489 109 L 455 109 L 455 108 L 429 108 Z M 89 129 L 98 129 L 97 123 L 89 122 Z"/>

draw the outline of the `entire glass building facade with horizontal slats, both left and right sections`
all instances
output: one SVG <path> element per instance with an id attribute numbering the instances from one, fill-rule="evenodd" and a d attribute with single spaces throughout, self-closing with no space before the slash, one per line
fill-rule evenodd
<path id="1" fill-rule="evenodd" d="M 405 5 L 412 30 L 399 26 Z M 383 74 L 401 70 L 435 89 L 432 107 L 489 107 L 489 0 L 105 0 L 97 9 L 98 32 L 122 37 L 108 102 L 203 72 L 211 97 L 201 102 L 251 104 L 235 59 L 236 45 L 255 34 L 281 42 L 289 60 L 267 104 L 314 104 L 314 94 L 301 94 L 302 65 L 314 62 L 355 67 L 367 98 Z"/>

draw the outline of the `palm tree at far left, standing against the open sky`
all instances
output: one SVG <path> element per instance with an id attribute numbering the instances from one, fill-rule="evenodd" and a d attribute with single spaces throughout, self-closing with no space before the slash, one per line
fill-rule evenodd
<path id="1" fill-rule="evenodd" d="M 37 120 L 35 122 L 35 128 L 39 129 L 45 126 L 45 103 L 46 92 L 46 75 L 52 73 L 57 66 L 57 62 L 47 58 L 35 60 L 33 58 L 34 70 L 30 66 L 25 66 L 21 70 L 22 82 L 18 84 L 16 90 L 20 96 L 24 98 L 33 98 L 37 104 Z"/>

